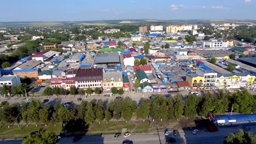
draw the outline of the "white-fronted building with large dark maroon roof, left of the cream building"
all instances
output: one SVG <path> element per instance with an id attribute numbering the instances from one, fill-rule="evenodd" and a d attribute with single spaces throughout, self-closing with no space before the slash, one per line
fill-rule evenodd
<path id="1" fill-rule="evenodd" d="M 103 69 L 78 69 L 75 75 L 75 81 L 78 82 L 78 88 L 102 87 Z"/>

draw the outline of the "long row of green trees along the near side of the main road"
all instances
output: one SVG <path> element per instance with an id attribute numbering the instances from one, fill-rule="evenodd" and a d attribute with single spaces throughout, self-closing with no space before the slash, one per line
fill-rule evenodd
<path id="1" fill-rule="evenodd" d="M 203 97 L 188 95 L 183 100 L 182 95 L 176 95 L 173 98 L 156 95 L 152 99 L 141 99 L 139 104 L 129 97 L 117 98 L 114 101 L 92 100 L 82 101 L 82 104 L 69 107 L 56 103 L 55 106 L 45 106 L 40 101 L 31 101 L 31 103 L 13 104 L 4 106 L 0 111 L 1 121 L 10 125 L 18 119 L 26 124 L 56 124 L 57 122 L 69 122 L 82 119 L 86 123 L 102 121 L 119 121 L 123 118 L 126 122 L 132 118 L 146 119 L 148 116 L 156 121 L 163 119 L 179 119 L 185 117 L 202 116 L 207 117 L 208 112 L 214 114 L 234 111 L 238 113 L 256 112 L 256 97 L 247 91 L 238 92 L 229 96 L 220 92 L 217 96 L 210 93 Z"/>

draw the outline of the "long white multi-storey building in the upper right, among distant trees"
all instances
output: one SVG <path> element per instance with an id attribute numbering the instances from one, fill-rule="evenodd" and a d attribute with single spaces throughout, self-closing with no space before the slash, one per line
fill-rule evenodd
<path id="1" fill-rule="evenodd" d="M 228 41 L 224 40 L 205 40 L 201 41 L 203 48 L 227 48 Z"/>

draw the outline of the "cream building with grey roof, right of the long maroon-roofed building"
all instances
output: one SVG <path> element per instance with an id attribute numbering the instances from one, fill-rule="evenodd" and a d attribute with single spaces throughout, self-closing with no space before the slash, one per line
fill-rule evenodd
<path id="1" fill-rule="evenodd" d="M 112 87 L 123 88 L 123 74 L 120 71 L 110 71 L 103 73 L 103 91 L 110 91 Z"/>

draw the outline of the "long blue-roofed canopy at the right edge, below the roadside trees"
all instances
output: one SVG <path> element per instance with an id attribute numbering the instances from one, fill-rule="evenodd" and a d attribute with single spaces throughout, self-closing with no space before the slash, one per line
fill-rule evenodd
<path id="1" fill-rule="evenodd" d="M 229 121 L 235 122 L 246 122 L 246 121 L 256 121 L 256 113 L 248 115 L 225 115 L 225 116 L 215 116 L 215 121 L 225 120 L 226 123 Z"/>

